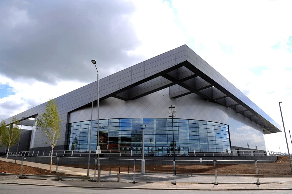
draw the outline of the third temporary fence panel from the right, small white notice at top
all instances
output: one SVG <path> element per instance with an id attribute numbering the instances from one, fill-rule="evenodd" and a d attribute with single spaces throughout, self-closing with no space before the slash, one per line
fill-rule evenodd
<path id="1" fill-rule="evenodd" d="M 214 183 L 215 162 L 213 160 L 175 160 L 177 183 Z"/>

